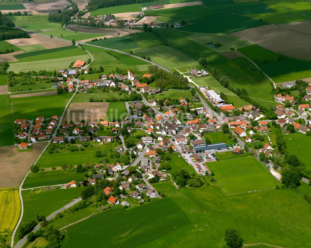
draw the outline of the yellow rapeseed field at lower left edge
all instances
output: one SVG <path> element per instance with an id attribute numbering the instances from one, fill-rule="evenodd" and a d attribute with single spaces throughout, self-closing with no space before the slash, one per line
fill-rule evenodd
<path id="1" fill-rule="evenodd" d="M 0 235 L 12 232 L 21 213 L 21 202 L 17 189 L 0 189 Z"/>

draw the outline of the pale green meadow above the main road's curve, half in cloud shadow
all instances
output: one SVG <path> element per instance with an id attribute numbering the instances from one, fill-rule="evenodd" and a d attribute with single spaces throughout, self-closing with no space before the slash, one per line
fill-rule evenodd
<path id="1" fill-rule="evenodd" d="M 168 46 L 136 48 L 132 49 L 132 51 L 133 54 L 137 56 L 150 56 L 151 61 L 163 65 L 171 71 L 178 67 L 197 65 L 197 61 L 187 54 L 179 52 Z"/>

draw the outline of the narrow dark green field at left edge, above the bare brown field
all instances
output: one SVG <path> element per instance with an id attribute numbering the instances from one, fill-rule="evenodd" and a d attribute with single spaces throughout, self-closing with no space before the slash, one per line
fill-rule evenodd
<path id="1" fill-rule="evenodd" d="M 14 133 L 9 95 L 0 95 L 0 102 L 0 147 L 11 146 L 14 144 Z"/>

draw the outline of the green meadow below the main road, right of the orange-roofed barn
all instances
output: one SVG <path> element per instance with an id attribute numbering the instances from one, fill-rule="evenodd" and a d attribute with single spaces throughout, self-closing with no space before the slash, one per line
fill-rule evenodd
<path id="1" fill-rule="evenodd" d="M 94 57 L 94 61 L 91 63 L 91 67 L 99 69 L 99 67 L 102 66 L 104 68 L 104 74 L 115 71 L 117 67 L 119 69 L 131 70 L 135 69 L 135 65 L 146 65 L 145 61 L 133 58 L 119 52 L 91 46 L 85 46 L 85 48 Z M 109 55 L 107 52 L 111 53 L 114 56 L 117 56 L 119 59 Z M 91 76 L 91 74 L 89 76 Z M 85 79 L 88 79 L 88 76 L 86 75 L 84 75 L 83 77 Z"/>

